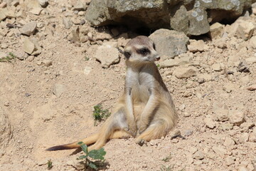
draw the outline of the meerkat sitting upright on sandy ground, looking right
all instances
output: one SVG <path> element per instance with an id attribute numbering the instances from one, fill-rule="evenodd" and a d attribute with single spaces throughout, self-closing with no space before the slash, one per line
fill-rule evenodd
<path id="1" fill-rule="evenodd" d="M 178 115 L 174 102 L 154 63 L 160 59 L 154 42 L 146 36 L 137 36 L 124 47 L 124 56 L 127 66 L 124 94 L 100 131 L 77 142 L 47 150 L 78 148 L 80 141 L 91 145 L 89 150 L 97 150 L 107 140 L 131 136 L 142 145 L 145 141 L 165 136 L 176 126 Z"/>

